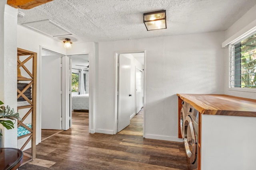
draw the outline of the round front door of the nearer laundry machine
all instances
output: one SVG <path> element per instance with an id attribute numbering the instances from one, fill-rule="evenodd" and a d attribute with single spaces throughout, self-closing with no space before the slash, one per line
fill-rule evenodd
<path id="1" fill-rule="evenodd" d="M 184 144 L 188 160 L 191 164 L 194 164 L 197 154 L 197 139 L 195 128 L 189 115 L 186 116 L 184 123 Z"/>

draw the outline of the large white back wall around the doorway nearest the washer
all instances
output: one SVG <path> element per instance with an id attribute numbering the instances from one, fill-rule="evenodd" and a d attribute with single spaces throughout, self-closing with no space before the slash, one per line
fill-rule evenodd
<path id="1" fill-rule="evenodd" d="M 180 141 L 176 93 L 224 92 L 223 41 L 214 32 L 99 43 L 96 130 L 115 130 L 115 52 L 146 50 L 145 137 Z"/>

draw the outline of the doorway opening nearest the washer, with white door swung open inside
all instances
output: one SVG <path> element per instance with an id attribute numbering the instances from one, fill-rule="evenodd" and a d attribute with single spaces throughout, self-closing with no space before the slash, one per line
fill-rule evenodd
<path id="1" fill-rule="evenodd" d="M 117 53 L 116 62 L 117 132 L 142 136 L 144 134 L 144 51 Z"/>

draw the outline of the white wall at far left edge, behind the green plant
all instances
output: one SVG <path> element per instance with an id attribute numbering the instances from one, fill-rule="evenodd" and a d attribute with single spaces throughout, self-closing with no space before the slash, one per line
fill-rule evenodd
<path id="1" fill-rule="evenodd" d="M 18 10 L 0 2 L 0 100 L 17 111 L 17 14 Z M 17 147 L 17 126 L 7 130 L 2 124 L 2 147 Z M 2 138 L 1 137 L 1 138 Z"/>

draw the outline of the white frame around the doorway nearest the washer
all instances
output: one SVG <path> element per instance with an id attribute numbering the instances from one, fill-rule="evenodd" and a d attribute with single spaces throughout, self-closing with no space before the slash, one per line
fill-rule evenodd
<path id="1" fill-rule="evenodd" d="M 130 53 L 144 53 L 144 71 L 143 71 L 143 91 L 144 91 L 144 117 L 143 117 L 143 137 L 145 137 L 145 117 L 146 117 L 146 50 L 138 51 L 120 51 L 115 52 L 115 74 L 116 74 L 116 87 L 115 87 L 115 116 L 114 116 L 114 134 L 117 133 L 117 113 L 118 113 L 118 55 Z"/>

